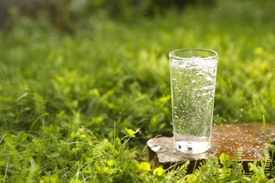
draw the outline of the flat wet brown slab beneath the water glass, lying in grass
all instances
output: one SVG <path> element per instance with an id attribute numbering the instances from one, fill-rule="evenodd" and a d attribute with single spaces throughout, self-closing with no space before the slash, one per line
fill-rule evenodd
<path id="1" fill-rule="evenodd" d="M 275 141 L 275 125 L 266 124 L 267 136 Z M 149 139 L 150 160 L 154 167 L 168 167 L 174 163 L 187 160 L 205 160 L 210 155 L 219 156 L 227 153 L 231 160 L 236 160 L 236 152 L 241 151 L 238 158 L 242 162 L 261 160 L 264 151 L 268 151 L 263 125 L 260 122 L 214 125 L 212 128 L 212 146 L 209 151 L 199 154 L 183 153 L 173 146 L 173 137 Z M 192 164 L 192 163 L 191 163 Z M 168 166 L 167 166 L 168 165 Z"/>

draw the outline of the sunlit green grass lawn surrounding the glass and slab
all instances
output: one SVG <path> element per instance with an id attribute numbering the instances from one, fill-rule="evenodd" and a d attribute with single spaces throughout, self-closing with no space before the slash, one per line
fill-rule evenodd
<path id="1" fill-rule="evenodd" d="M 186 165 L 151 170 L 143 151 L 148 139 L 172 135 L 168 53 L 174 49 L 219 53 L 214 124 L 262 122 L 263 115 L 275 124 L 274 7 L 273 1 L 223 1 L 135 20 L 99 15 L 75 24 L 74 34 L 44 19 L 18 18 L 0 32 L 1 181 L 274 178 L 274 169 L 264 167 L 274 165 L 271 156 L 251 164 L 249 176 L 238 163 L 221 168 L 212 158 L 185 177 Z M 130 138 L 125 128 L 141 134 Z"/>

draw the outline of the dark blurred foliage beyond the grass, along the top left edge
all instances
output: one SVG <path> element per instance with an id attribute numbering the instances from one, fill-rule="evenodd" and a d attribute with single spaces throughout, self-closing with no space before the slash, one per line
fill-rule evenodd
<path id="1" fill-rule="evenodd" d="M 156 13 L 176 7 L 183 10 L 188 4 L 203 4 L 212 6 L 214 0 L 23 0 L 1 1 L 1 27 L 12 26 L 14 16 L 28 18 L 47 18 L 62 30 L 74 30 L 75 23 L 94 16 L 108 16 L 134 20 L 140 16 L 152 17 Z"/>

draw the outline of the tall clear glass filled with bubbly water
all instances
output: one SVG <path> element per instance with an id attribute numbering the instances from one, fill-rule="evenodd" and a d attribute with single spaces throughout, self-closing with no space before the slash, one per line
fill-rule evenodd
<path id="1" fill-rule="evenodd" d="M 179 49 L 169 53 L 173 143 L 184 153 L 211 146 L 218 53 Z"/>

